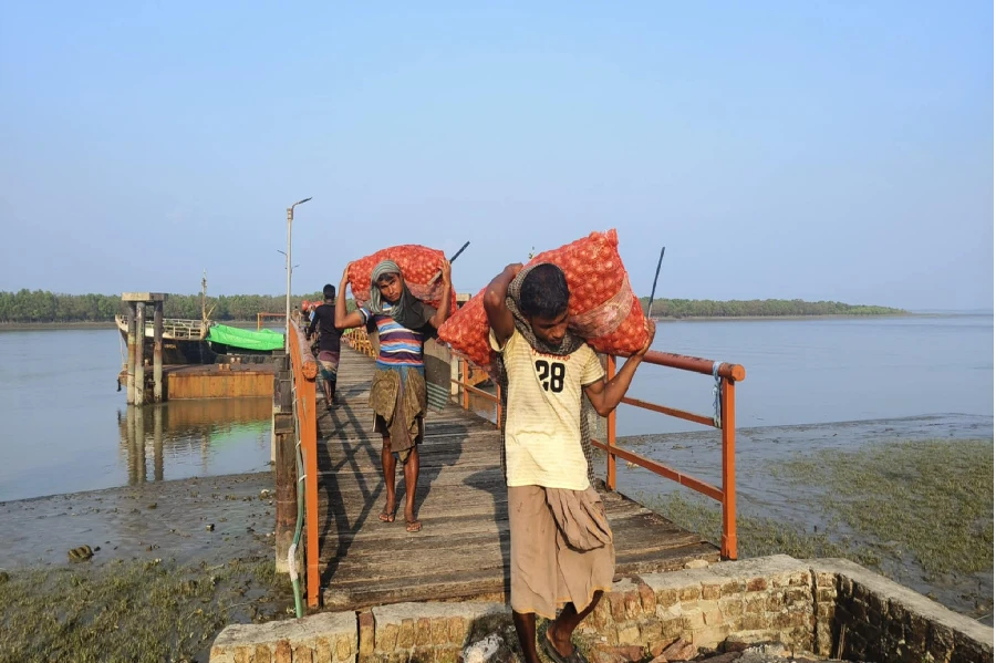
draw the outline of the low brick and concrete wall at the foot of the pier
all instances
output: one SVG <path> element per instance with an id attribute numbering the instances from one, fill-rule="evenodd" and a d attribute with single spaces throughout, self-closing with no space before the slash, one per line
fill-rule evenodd
<path id="1" fill-rule="evenodd" d="M 504 603 L 403 603 L 229 626 L 211 662 L 450 663 L 509 625 Z M 593 650 L 624 649 L 631 660 L 681 638 L 695 651 L 780 642 L 845 660 L 993 661 L 992 628 L 852 562 L 787 556 L 621 580 L 579 634 Z"/>

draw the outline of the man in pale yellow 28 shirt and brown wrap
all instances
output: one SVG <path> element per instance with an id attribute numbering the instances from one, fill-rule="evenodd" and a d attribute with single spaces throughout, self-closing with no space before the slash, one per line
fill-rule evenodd
<path id="1" fill-rule="evenodd" d="M 620 404 L 654 338 L 610 381 L 594 351 L 568 330 L 570 291 L 559 267 L 509 265 L 485 293 L 505 417 L 512 620 L 526 663 L 539 663 L 536 615 L 556 663 L 587 663 L 571 634 L 612 584 L 615 548 L 592 486 L 581 401 L 608 416 Z M 557 614 L 558 608 L 562 608 Z"/>

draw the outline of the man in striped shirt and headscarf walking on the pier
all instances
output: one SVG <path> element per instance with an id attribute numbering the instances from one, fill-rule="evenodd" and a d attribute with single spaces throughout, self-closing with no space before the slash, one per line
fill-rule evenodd
<path id="1" fill-rule="evenodd" d="M 376 371 L 370 387 L 374 429 L 383 438 L 381 463 L 387 501 L 378 518 L 394 522 L 397 512 L 395 469 L 401 460 L 405 475 L 405 528 L 422 530 L 415 515 L 418 485 L 418 444 L 425 433 L 426 391 L 423 344 L 449 318 L 453 283 L 449 261 L 442 265 L 443 293 L 438 309 L 416 299 L 405 284 L 401 268 L 391 260 L 380 262 L 370 277 L 370 301 L 346 313 L 345 300 L 335 303 L 335 325 L 340 330 L 365 325 L 380 341 Z M 349 282 L 350 266 L 342 272 L 342 292 Z"/>

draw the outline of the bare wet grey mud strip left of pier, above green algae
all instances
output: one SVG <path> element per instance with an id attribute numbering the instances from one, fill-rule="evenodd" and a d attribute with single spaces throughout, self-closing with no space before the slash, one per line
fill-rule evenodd
<path id="1" fill-rule="evenodd" d="M 268 472 L 0 503 L 0 568 L 65 564 L 66 550 L 84 545 L 101 548 L 92 566 L 272 556 L 276 506 L 273 498 L 260 498 L 264 490 L 273 490 Z"/>

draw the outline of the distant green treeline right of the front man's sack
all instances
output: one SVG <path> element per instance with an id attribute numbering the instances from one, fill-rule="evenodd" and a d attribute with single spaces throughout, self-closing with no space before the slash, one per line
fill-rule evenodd
<path id="1" fill-rule="evenodd" d="M 641 298 L 646 310 L 649 297 Z M 787 318 L 796 315 L 904 315 L 903 309 L 845 304 L 839 301 L 801 299 L 751 299 L 713 301 L 710 299 L 654 298 L 655 318 Z"/>

